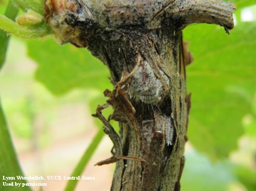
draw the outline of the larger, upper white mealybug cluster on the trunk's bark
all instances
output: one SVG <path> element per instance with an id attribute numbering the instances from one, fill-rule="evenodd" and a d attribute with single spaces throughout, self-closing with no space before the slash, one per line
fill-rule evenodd
<path id="1" fill-rule="evenodd" d="M 167 75 L 162 70 L 160 70 L 160 73 L 166 84 L 169 85 Z M 153 104 L 160 101 L 163 94 L 161 80 L 156 77 L 149 63 L 143 60 L 141 66 L 138 67 L 133 75 L 129 95 L 134 97 L 135 100 L 141 100 L 146 104 Z"/>

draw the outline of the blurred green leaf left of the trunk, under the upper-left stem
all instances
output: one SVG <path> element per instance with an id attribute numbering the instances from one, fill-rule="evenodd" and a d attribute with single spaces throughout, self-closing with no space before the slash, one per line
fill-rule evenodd
<path id="1" fill-rule="evenodd" d="M 53 39 L 28 41 L 28 55 L 38 63 L 36 79 L 50 92 L 62 95 L 74 88 L 111 88 L 106 66 L 87 49 L 66 44 L 61 46 Z"/>

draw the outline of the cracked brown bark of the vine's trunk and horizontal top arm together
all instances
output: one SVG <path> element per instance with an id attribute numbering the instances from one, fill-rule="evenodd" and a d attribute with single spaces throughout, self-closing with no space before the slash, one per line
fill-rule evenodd
<path id="1" fill-rule="evenodd" d="M 110 138 L 117 140 L 111 190 L 180 190 L 190 108 L 185 66 L 192 60 L 181 30 L 191 23 L 206 22 L 229 32 L 234 27 L 234 9 L 234 5 L 217 0 L 45 2 L 45 18 L 56 38 L 88 47 L 110 70 L 114 90 L 104 94 L 109 97 L 107 105 L 114 108 L 110 119 L 119 121 L 119 137 L 100 115 L 107 105 L 98 108 L 95 116 L 102 120 Z M 155 103 L 129 95 L 133 74 L 143 61 L 162 83 L 163 96 Z M 165 139 L 168 125 L 174 128 L 171 145 Z"/>

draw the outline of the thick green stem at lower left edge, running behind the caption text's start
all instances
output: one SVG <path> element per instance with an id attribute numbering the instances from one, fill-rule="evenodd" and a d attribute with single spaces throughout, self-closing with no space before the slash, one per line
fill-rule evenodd
<path id="1" fill-rule="evenodd" d="M 23 173 L 19 166 L 19 162 L 16 156 L 13 143 L 11 142 L 10 133 L 8 130 L 7 122 L 5 120 L 4 111 L 0 102 L 0 175 L 2 176 L 22 176 Z M 3 181 L 5 182 L 5 181 Z M 7 181 L 8 182 L 8 181 Z M 15 180 L 17 183 L 27 182 L 25 180 Z M 8 182 L 10 183 L 10 182 Z M 0 190 L 16 190 L 13 187 L 2 188 L 3 184 L 0 184 Z M 21 191 L 31 191 L 30 187 L 19 187 Z"/>

